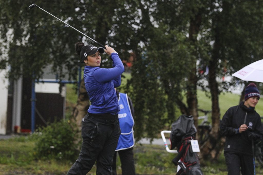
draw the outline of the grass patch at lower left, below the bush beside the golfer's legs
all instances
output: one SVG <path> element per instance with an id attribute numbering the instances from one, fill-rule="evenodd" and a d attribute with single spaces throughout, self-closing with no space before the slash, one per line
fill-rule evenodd
<path id="1" fill-rule="evenodd" d="M 0 140 L 0 174 L 65 174 L 70 162 L 36 160 L 35 141 L 29 136 Z"/>

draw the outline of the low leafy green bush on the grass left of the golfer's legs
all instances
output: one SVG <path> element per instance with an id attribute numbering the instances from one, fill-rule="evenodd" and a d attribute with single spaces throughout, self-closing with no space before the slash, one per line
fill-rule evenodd
<path id="1" fill-rule="evenodd" d="M 79 144 L 75 141 L 80 140 L 77 133 L 72 124 L 64 120 L 38 128 L 33 136 L 36 139 L 36 158 L 75 161 L 79 153 Z"/>

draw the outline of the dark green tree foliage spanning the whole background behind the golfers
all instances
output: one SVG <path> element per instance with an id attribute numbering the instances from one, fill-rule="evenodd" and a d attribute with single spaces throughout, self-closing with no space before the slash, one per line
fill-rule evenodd
<path id="1" fill-rule="evenodd" d="M 41 9 L 29 11 L 32 3 L 0 2 L 1 46 L 8 50 L 8 56 L 1 55 L 1 68 L 11 66 L 9 78 L 41 78 L 45 66 L 52 65 L 60 78 L 66 69 L 70 78 L 77 79 L 80 62 L 74 43 L 92 42 Z M 222 145 L 218 96 L 237 80 L 221 78 L 262 58 L 262 4 L 262 0 L 37 2 L 99 43 L 112 46 L 123 60 L 133 57 L 132 78 L 122 90 L 135 107 L 137 140 L 154 138 L 170 126 L 178 109 L 193 115 L 197 125 L 197 87 L 208 91 L 212 131 L 202 152 L 212 158 Z M 107 57 L 102 62 L 104 67 L 110 65 Z M 85 105 L 78 109 L 86 109 Z"/>

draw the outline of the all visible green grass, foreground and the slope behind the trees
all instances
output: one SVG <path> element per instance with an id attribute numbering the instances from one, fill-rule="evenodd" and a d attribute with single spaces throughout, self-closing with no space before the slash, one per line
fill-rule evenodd
<path id="1" fill-rule="evenodd" d="M 129 73 L 124 73 L 122 86 L 128 79 Z M 75 85 L 67 84 L 67 115 L 77 102 Z M 222 93 L 219 96 L 219 106 L 221 117 L 225 111 L 238 104 L 240 96 L 232 93 Z M 198 105 L 200 109 L 211 110 L 211 99 L 205 96 L 205 93 L 198 90 Z M 257 112 L 263 116 L 263 98 L 260 99 L 256 106 Z M 199 114 L 203 115 L 203 114 Z M 170 127 L 170 126 L 169 126 Z M 34 155 L 35 142 L 29 136 L 15 137 L 9 140 L 0 140 L 0 175 L 2 174 L 66 174 L 73 162 L 55 161 L 55 160 L 37 160 Z M 176 166 L 171 162 L 175 154 L 168 153 L 164 146 L 159 145 L 141 145 L 134 146 L 134 161 L 136 174 L 162 174 L 174 175 Z M 201 160 L 201 169 L 205 175 L 226 175 L 227 168 L 224 155 L 221 154 L 217 163 Z M 117 157 L 117 173 L 121 174 L 120 160 Z M 263 174 L 260 167 L 256 169 L 257 174 Z M 88 173 L 96 174 L 96 166 Z"/>

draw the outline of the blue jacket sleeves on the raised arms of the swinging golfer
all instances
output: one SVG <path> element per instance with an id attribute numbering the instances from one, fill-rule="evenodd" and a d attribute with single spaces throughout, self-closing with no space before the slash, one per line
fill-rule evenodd
<path id="1" fill-rule="evenodd" d="M 106 68 L 96 69 L 94 71 L 94 77 L 97 81 L 101 83 L 114 80 L 113 81 L 114 87 L 118 87 L 120 86 L 120 82 L 121 82 L 120 75 L 124 72 L 124 66 L 117 53 L 112 53 L 111 57 L 112 57 L 113 65 L 115 65 L 115 67 L 109 69 Z"/>

